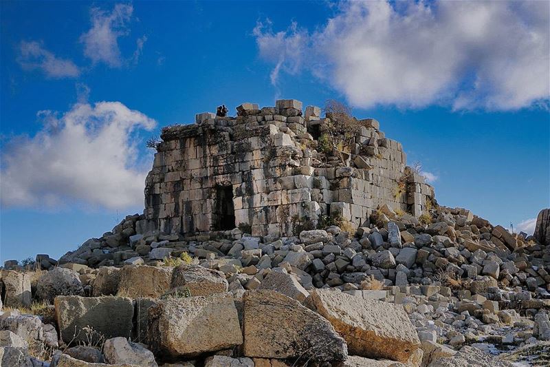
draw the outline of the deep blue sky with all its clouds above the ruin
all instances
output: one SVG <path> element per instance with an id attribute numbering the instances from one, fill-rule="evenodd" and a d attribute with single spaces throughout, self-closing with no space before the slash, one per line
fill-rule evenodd
<path id="1" fill-rule="evenodd" d="M 336 98 L 441 205 L 550 206 L 549 3 L 2 1 L 0 260 L 58 258 L 142 211 L 147 138 L 221 103 Z"/>

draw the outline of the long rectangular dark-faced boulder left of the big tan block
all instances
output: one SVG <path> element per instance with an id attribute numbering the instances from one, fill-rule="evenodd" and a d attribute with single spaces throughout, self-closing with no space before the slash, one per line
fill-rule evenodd
<path id="1" fill-rule="evenodd" d="M 95 341 L 100 335 L 130 337 L 133 302 L 126 297 L 58 296 L 54 301 L 61 339 L 66 342 L 86 342 L 87 330 L 93 330 Z M 90 332 L 88 332 L 90 333 Z"/>

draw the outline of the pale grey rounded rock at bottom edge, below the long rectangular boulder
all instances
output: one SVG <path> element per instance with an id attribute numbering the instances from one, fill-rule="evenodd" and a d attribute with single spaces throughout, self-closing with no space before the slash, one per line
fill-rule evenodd
<path id="1" fill-rule="evenodd" d="M 151 350 L 147 350 L 140 344 L 129 342 L 124 337 L 114 337 L 105 341 L 103 353 L 109 364 L 129 363 L 158 367 Z"/>

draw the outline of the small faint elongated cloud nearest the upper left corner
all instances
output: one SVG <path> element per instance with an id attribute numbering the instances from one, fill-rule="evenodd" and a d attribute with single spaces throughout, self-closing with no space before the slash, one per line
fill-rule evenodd
<path id="1" fill-rule="evenodd" d="M 55 56 L 37 41 L 22 41 L 19 44 L 17 62 L 23 69 L 41 70 L 49 78 L 74 78 L 80 75 L 80 69 L 72 61 Z"/>

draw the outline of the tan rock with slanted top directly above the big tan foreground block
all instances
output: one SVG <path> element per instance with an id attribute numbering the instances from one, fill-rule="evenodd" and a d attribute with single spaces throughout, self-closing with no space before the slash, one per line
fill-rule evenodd
<path id="1" fill-rule="evenodd" d="M 171 287 L 188 288 L 191 295 L 211 295 L 228 291 L 228 281 L 221 271 L 199 265 L 180 265 L 174 269 Z"/>

